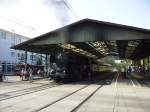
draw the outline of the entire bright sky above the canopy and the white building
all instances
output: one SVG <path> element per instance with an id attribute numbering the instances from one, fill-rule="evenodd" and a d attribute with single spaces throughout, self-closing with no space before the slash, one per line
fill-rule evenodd
<path id="1" fill-rule="evenodd" d="M 150 0 L 67 0 L 77 17 L 54 1 L 0 0 L 0 28 L 33 38 L 91 18 L 150 29 Z"/>

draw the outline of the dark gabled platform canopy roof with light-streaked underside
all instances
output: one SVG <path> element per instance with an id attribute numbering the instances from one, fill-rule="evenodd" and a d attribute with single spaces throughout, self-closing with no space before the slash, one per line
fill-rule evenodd
<path id="1" fill-rule="evenodd" d="M 91 58 L 118 55 L 140 59 L 150 54 L 149 39 L 147 29 L 83 19 L 12 48 L 45 54 L 65 49 Z"/>

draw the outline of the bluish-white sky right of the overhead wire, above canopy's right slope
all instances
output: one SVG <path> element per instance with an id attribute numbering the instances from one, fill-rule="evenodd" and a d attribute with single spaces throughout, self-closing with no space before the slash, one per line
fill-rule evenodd
<path id="1" fill-rule="evenodd" d="M 150 29 L 150 0 L 68 1 L 81 17 Z"/>

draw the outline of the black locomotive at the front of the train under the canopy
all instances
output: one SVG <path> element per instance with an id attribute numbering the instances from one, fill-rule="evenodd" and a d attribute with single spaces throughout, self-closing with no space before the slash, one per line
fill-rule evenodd
<path id="1" fill-rule="evenodd" d="M 61 52 L 52 54 L 50 62 L 50 77 L 56 81 L 75 81 L 88 77 L 90 60 L 85 56 Z"/>

